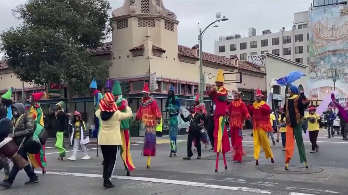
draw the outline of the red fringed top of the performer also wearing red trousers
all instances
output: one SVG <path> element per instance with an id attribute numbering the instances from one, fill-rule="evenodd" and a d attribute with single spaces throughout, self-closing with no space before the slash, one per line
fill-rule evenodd
<path id="1" fill-rule="evenodd" d="M 251 118 L 245 103 L 240 99 L 238 101 L 233 100 L 228 105 L 227 111 L 230 117 L 230 127 L 243 129 L 243 121 Z"/>

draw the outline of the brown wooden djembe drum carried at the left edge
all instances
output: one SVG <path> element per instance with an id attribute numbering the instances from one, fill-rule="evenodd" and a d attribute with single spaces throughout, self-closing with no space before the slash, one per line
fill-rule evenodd
<path id="1" fill-rule="evenodd" d="M 19 170 L 29 165 L 21 155 L 18 154 L 18 146 L 14 139 L 7 137 L 0 143 L 0 153 L 9 159 L 12 159 Z"/>

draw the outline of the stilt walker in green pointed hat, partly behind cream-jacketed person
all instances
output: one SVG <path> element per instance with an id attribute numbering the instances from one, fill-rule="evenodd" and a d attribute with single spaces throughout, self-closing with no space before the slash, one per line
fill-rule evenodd
<path id="1" fill-rule="evenodd" d="M 118 80 L 115 80 L 114 82 L 112 95 L 114 96 L 114 99 L 116 101 L 117 109 L 121 112 L 127 112 L 126 107 L 128 106 L 128 101 L 122 97 L 121 84 Z M 121 121 L 120 128 L 121 128 L 122 145 L 119 147 L 120 155 L 125 165 L 125 169 L 127 171 L 126 173 L 127 176 L 130 176 L 130 171 L 133 171 L 135 169 L 132 156 L 130 156 L 130 149 L 129 149 L 130 147 L 129 125 L 130 125 L 130 119 L 125 119 Z"/>

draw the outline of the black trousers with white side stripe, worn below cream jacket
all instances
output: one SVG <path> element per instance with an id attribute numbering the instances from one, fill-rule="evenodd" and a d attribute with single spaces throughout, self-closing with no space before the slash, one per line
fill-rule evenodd
<path id="1" fill-rule="evenodd" d="M 116 165 L 117 145 L 100 145 L 103 153 L 103 178 L 104 182 L 111 181 L 111 176 Z"/>

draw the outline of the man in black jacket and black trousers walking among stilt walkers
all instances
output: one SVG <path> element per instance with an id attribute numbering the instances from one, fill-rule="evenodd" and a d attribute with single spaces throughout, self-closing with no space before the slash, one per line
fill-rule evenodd
<path id="1" fill-rule="evenodd" d="M 187 156 L 183 160 L 191 160 L 192 153 L 192 141 L 196 139 L 197 143 L 197 159 L 201 159 L 201 145 L 200 145 L 200 131 L 203 129 L 200 120 L 204 120 L 203 115 L 199 112 L 195 112 L 195 106 L 190 106 L 190 114 L 184 117 L 180 110 L 180 116 L 184 122 L 189 122 L 189 131 L 187 137 Z"/>

